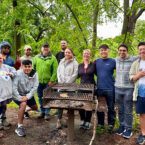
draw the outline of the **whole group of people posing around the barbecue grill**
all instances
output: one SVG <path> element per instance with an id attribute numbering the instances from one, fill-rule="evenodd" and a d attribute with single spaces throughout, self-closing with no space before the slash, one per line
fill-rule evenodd
<path id="1" fill-rule="evenodd" d="M 41 47 L 40 54 L 32 58 L 32 48 L 27 45 L 24 48 L 25 55 L 20 58 L 19 67 L 10 57 L 10 44 L 4 42 L 0 47 L 0 79 L 9 80 L 9 82 L 5 81 L 8 85 L 2 84 L 0 87 L 2 92 L 0 129 L 9 125 L 5 112 L 6 104 L 12 100 L 12 96 L 14 102 L 19 105 L 18 126 L 15 132 L 18 136 L 25 136 L 24 115 L 28 116 L 28 111 L 31 109 L 38 110 L 34 99 L 35 91 L 37 91 L 40 104 L 39 118 L 49 120 L 50 109 L 43 108 L 43 90 L 56 82 L 74 83 L 79 78 L 80 83 L 95 84 L 98 101 L 102 97 L 105 98 L 109 130 L 114 129 L 116 103 L 119 128 L 115 130 L 115 133 L 124 138 L 132 136 L 133 101 L 136 101 L 136 113 L 139 114 L 141 128 L 137 143 L 145 142 L 145 42 L 138 44 L 138 56 L 130 56 L 127 45 L 121 44 L 118 47 L 118 57 L 115 59 L 109 58 L 110 48 L 106 44 L 99 47 L 100 58 L 95 61 L 91 61 L 90 49 L 85 49 L 83 61 L 80 64 L 65 40 L 61 41 L 62 49 L 56 56 L 51 53 L 50 46 L 46 43 Z M 17 66 L 19 70 L 15 71 L 14 66 Z M 62 114 L 63 110 L 58 109 L 57 128 L 61 128 Z M 92 111 L 79 110 L 79 114 L 80 128 L 90 129 Z M 104 112 L 98 110 L 97 117 L 98 126 L 104 127 Z"/>

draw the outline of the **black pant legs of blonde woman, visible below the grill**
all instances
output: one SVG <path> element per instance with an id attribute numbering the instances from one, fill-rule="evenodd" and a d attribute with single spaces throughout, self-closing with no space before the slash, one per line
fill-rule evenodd
<path id="1" fill-rule="evenodd" d="M 81 121 L 91 122 L 92 111 L 79 110 Z"/>

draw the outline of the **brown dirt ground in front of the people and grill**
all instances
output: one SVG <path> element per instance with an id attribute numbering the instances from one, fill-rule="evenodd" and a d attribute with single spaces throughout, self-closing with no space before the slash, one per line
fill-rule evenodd
<path id="1" fill-rule="evenodd" d="M 31 112 L 31 118 L 24 120 L 26 137 L 18 137 L 14 130 L 17 124 L 17 109 L 7 110 L 8 121 L 12 124 L 9 130 L 0 131 L 4 134 L 0 138 L 0 145 L 69 145 L 67 142 L 67 128 L 55 130 L 56 116 L 50 121 L 38 120 L 38 114 Z M 75 116 L 75 141 L 72 145 L 89 145 L 92 128 L 88 131 L 79 129 L 79 117 Z M 134 132 L 131 139 L 124 139 L 115 134 L 96 134 L 93 145 L 135 145 L 138 133 Z"/>

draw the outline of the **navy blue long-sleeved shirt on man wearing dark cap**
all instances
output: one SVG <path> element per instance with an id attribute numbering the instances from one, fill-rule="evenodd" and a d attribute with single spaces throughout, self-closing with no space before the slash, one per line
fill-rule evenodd
<path id="1" fill-rule="evenodd" d="M 114 70 L 116 69 L 116 62 L 112 58 L 99 58 L 95 61 L 96 75 L 97 75 L 97 89 L 114 89 Z"/>

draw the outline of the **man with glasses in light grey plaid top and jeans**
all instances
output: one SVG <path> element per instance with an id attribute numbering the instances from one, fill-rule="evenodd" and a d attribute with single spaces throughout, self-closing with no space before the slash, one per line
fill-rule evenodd
<path id="1" fill-rule="evenodd" d="M 132 136 L 134 85 L 129 79 L 129 71 L 132 63 L 138 57 L 129 56 L 128 47 L 125 44 L 118 47 L 118 54 L 119 57 L 116 58 L 115 100 L 118 106 L 119 128 L 116 130 L 116 134 L 130 138 Z"/>

